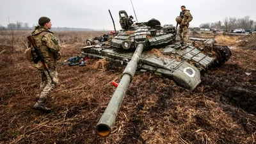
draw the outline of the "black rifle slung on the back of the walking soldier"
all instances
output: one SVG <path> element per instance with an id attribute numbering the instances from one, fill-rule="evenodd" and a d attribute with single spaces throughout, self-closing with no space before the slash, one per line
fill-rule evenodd
<path id="1" fill-rule="evenodd" d="M 27 38 L 28 38 L 29 43 L 34 47 L 35 52 L 36 52 L 37 57 L 33 60 L 34 63 L 38 63 L 38 61 L 41 60 L 41 63 L 44 65 L 45 69 L 47 70 L 47 73 L 49 74 L 49 77 L 51 78 L 52 83 L 54 83 L 54 81 L 51 77 L 51 74 L 50 74 L 49 67 L 48 67 L 47 63 L 45 63 L 45 59 L 44 59 L 42 52 L 40 51 L 40 49 L 38 47 L 36 47 L 35 41 L 31 35 L 27 36 Z"/>

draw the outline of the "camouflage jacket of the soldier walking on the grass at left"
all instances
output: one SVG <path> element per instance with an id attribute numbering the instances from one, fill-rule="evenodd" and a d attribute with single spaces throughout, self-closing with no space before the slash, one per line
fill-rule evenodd
<path id="1" fill-rule="evenodd" d="M 36 27 L 31 35 L 35 40 L 36 46 L 41 50 L 48 67 L 56 67 L 55 56 L 56 52 L 60 51 L 61 47 L 58 44 L 58 40 L 54 37 L 54 34 L 43 27 Z M 36 58 L 35 52 L 32 52 L 32 54 L 34 58 Z M 35 67 L 38 69 L 44 69 L 44 66 L 40 62 L 36 63 Z"/>

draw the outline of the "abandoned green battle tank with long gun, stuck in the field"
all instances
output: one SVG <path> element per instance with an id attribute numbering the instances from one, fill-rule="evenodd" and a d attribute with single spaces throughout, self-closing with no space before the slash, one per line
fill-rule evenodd
<path id="1" fill-rule="evenodd" d="M 106 38 L 88 39 L 88 46 L 82 49 L 82 57 L 105 58 L 111 63 L 127 65 L 106 111 L 97 124 L 100 136 L 111 133 L 125 90 L 136 69 L 170 77 L 179 86 L 194 90 L 201 82 L 200 71 L 218 67 L 231 56 L 230 49 L 216 45 L 214 39 L 189 38 L 201 41 L 204 47 L 196 48 L 193 44 L 188 44 L 185 49 L 181 49 L 176 36 L 177 29 L 172 24 L 161 26 L 156 19 L 134 24 L 132 16 L 128 17 L 124 10 L 119 12 L 119 17 L 122 29 L 115 37 L 108 38 L 108 42 Z M 163 56 L 152 54 L 150 49 L 153 48 L 160 49 Z"/>

